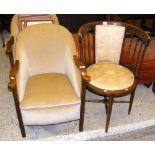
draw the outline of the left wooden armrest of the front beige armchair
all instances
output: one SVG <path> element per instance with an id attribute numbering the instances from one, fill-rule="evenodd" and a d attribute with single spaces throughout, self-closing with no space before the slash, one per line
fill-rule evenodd
<path id="1" fill-rule="evenodd" d="M 9 84 L 8 87 L 10 89 L 14 89 L 16 87 L 16 74 L 19 69 L 19 60 L 16 60 L 15 65 L 11 68 L 10 75 L 9 75 Z"/>

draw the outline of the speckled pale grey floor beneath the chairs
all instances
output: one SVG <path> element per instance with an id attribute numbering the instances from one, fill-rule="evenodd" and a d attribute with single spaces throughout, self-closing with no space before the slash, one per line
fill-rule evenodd
<path id="1" fill-rule="evenodd" d="M 7 40 L 6 33 L 5 41 Z M 27 137 L 23 139 L 18 127 L 13 96 L 7 88 L 9 70 L 9 59 L 0 43 L 0 140 L 104 140 L 103 137 L 112 135 L 119 137 L 118 135 L 155 124 L 155 95 L 151 88 L 139 85 L 131 115 L 127 114 L 128 104 L 114 104 L 107 134 L 104 133 L 106 119 L 104 105 L 86 103 L 84 132 L 79 133 L 78 121 L 49 126 L 28 126 Z M 87 98 L 100 98 L 100 96 L 87 91 Z M 123 99 L 128 99 L 128 96 Z"/>

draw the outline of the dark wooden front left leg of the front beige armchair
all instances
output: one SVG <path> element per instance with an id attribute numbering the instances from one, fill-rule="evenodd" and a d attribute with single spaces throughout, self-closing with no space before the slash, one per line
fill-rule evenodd
<path id="1" fill-rule="evenodd" d="M 19 122 L 19 127 L 20 127 L 20 131 L 22 134 L 22 137 L 26 137 L 26 133 L 25 133 L 25 128 L 23 125 L 23 120 L 22 120 L 22 115 L 21 115 L 21 111 L 19 108 L 19 100 L 18 100 L 18 95 L 17 95 L 17 89 L 13 89 L 13 97 L 15 100 L 15 108 L 16 108 L 16 113 L 17 113 L 17 117 L 18 117 L 18 122 Z"/>

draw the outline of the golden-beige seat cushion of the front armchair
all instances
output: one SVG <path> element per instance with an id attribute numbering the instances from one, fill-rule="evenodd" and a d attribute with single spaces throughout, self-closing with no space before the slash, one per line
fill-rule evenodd
<path id="1" fill-rule="evenodd" d="M 80 98 L 64 74 L 46 73 L 34 75 L 28 80 L 20 108 L 25 110 L 79 103 Z"/>

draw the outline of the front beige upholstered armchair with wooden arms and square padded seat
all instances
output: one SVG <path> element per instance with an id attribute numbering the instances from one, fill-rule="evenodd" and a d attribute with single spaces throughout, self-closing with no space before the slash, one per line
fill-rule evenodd
<path id="1" fill-rule="evenodd" d="M 15 56 L 9 88 L 13 91 L 22 136 L 26 136 L 25 125 L 78 119 L 82 131 L 81 97 L 87 77 L 83 64 L 76 59 L 72 34 L 57 24 L 29 26 L 17 37 Z"/>

